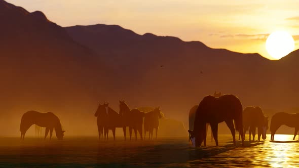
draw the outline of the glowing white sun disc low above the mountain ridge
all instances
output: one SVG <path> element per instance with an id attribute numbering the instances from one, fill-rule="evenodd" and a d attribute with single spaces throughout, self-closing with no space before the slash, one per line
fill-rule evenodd
<path id="1" fill-rule="evenodd" d="M 271 57 L 280 59 L 295 48 L 293 37 L 286 31 L 275 31 L 266 40 L 266 49 Z"/>

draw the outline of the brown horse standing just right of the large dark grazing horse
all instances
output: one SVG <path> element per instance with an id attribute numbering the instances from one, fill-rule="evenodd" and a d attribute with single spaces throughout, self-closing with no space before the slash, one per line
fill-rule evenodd
<path id="1" fill-rule="evenodd" d="M 263 110 L 260 107 L 247 106 L 243 111 L 243 132 L 244 136 L 246 131 L 249 130 L 249 141 L 254 141 L 255 129 L 257 128 L 257 139 L 260 141 L 260 136 L 265 140 L 267 138 L 266 133 L 268 130 L 268 117 L 264 116 Z M 240 134 L 239 134 L 240 140 Z"/>

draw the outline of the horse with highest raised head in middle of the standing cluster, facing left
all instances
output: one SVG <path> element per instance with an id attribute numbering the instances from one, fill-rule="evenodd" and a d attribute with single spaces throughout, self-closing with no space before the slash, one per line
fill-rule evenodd
<path id="1" fill-rule="evenodd" d="M 130 140 L 132 137 L 132 129 L 135 133 L 135 140 L 137 140 L 137 131 L 139 132 L 141 140 L 142 138 L 142 126 L 143 126 L 143 116 L 144 112 L 138 109 L 132 109 L 128 107 L 125 101 L 120 101 L 120 114 L 124 116 L 125 127 L 124 135 L 126 139 L 126 127 L 129 126 Z"/>

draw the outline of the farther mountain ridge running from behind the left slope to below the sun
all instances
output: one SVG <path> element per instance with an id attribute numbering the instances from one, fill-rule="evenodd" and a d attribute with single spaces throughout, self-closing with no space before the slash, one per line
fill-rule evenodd
<path id="1" fill-rule="evenodd" d="M 108 53 L 109 64 L 130 76 L 131 88 L 119 92 L 131 102 L 163 104 L 179 116 L 217 90 L 237 95 L 243 106 L 297 106 L 298 51 L 271 61 L 256 53 L 212 49 L 200 41 L 139 35 L 118 25 L 77 25 L 65 30 L 98 54 Z"/>

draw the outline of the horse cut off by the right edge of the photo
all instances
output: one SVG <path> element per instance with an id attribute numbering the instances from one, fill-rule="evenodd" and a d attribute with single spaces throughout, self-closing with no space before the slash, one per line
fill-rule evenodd
<path id="1" fill-rule="evenodd" d="M 295 128 L 294 138 L 299 130 L 299 113 L 289 114 L 285 112 L 278 112 L 274 114 L 271 118 L 270 131 L 271 140 L 274 140 L 275 132 L 279 129 L 281 125 L 286 125 L 287 127 Z"/>

